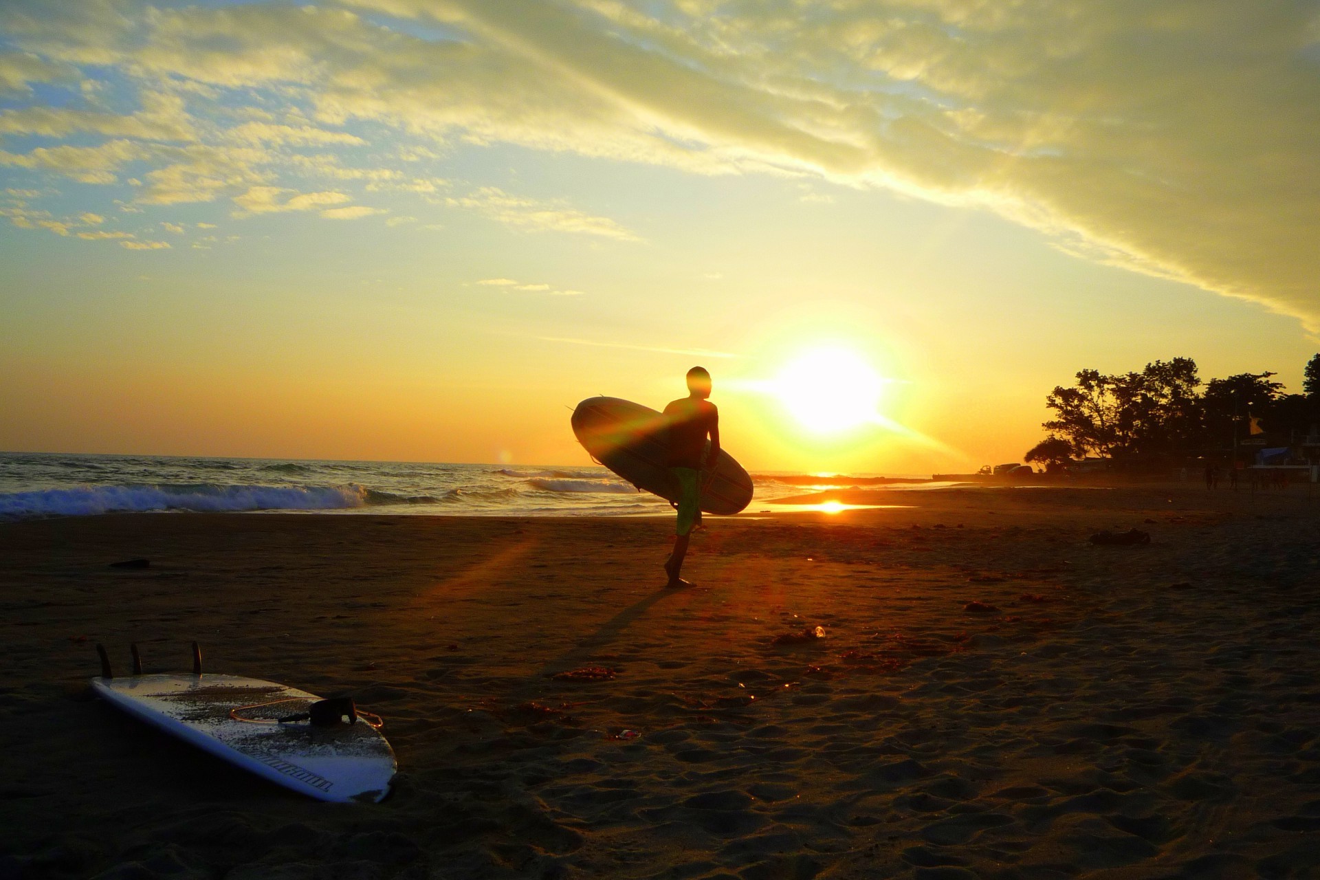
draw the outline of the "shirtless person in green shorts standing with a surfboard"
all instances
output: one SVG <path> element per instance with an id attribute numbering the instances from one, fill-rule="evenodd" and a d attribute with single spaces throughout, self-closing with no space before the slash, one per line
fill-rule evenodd
<path id="1" fill-rule="evenodd" d="M 669 561 L 664 563 L 665 574 L 669 575 L 667 586 L 671 587 L 690 586 L 680 574 L 682 559 L 688 555 L 692 529 L 701 521 L 697 496 L 701 493 L 702 464 L 713 468 L 719 458 L 719 410 L 706 400 L 708 397 L 710 397 L 710 373 L 705 367 L 693 367 L 688 371 L 688 396 L 664 408 L 665 429 L 669 433 L 667 464 L 680 487 L 678 521 L 675 529 L 677 540 L 673 542 Z M 706 437 L 710 437 L 710 454 L 702 462 Z"/>

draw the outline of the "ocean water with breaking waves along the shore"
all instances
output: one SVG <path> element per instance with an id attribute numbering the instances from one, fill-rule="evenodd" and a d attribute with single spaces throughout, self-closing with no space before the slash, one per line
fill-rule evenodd
<path id="1" fill-rule="evenodd" d="M 818 487 L 878 479 L 820 479 Z M 750 509 L 810 492 L 817 478 L 764 474 L 754 483 Z M 591 466 L 0 453 L 0 520 L 131 511 L 636 516 L 669 509 Z"/>

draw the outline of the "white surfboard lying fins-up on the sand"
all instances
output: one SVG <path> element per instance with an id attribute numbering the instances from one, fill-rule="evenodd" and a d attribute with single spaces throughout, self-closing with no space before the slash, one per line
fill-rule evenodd
<path id="1" fill-rule="evenodd" d="M 389 792 L 395 752 L 371 724 L 279 722 L 321 699 L 304 690 L 210 673 L 100 677 L 91 686 L 129 715 L 294 792 L 366 802 Z"/>

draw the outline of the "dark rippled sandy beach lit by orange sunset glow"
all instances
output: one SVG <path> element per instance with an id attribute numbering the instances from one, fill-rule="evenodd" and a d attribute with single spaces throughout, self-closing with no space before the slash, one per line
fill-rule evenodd
<path id="1" fill-rule="evenodd" d="M 754 503 L 682 591 L 661 519 L 0 525 L 0 877 L 1313 876 L 1320 495 L 846 500 L 911 507 Z M 90 697 L 96 641 L 194 639 L 354 693 L 395 793 L 304 800 Z"/>

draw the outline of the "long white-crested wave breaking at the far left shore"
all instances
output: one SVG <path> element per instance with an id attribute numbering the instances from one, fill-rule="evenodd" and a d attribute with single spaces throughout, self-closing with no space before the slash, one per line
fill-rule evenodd
<path id="1" fill-rule="evenodd" d="M 360 486 L 125 484 L 0 492 L 0 519 L 135 511 L 331 511 L 368 504 Z M 375 501 L 380 503 L 380 501 Z M 393 501 L 397 503 L 397 501 Z"/>

